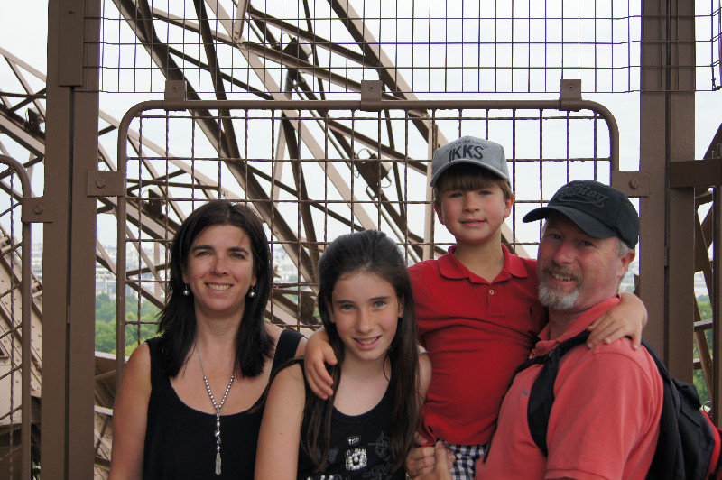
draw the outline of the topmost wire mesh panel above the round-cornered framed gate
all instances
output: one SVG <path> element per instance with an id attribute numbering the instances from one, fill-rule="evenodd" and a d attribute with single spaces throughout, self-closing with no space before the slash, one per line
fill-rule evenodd
<path id="1" fill-rule="evenodd" d="M 695 7 L 697 59 L 686 68 L 710 90 L 718 0 Z M 191 97 L 325 99 L 381 79 L 386 95 L 412 98 L 551 93 L 581 78 L 588 92 L 639 91 L 641 18 L 634 1 L 106 0 L 101 90 L 162 92 L 165 79 L 185 78 Z"/>

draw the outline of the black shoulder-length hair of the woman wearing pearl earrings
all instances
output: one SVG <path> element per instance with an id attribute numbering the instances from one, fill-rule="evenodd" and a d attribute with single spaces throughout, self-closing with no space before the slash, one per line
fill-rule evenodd
<path id="1" fill-rule="evenodd" d="M 264 309 L 271 293 L 273 265 L 264 226 L 251 208 L 227 200 L 212 200 L 194 210 L 173 238 L 171 280 L 158 325 L 162 334 L 158 341 L 162 370 L 170 376 L 180 372 L 196 338 L 193 294 L 182 294 L 185 289 L 183 270 L 188 265 L 190 246 L 196 237 L 214 225 L 232 225 L 243 230 L 248 235 L 253 254 L 255 296 L 245 297 L 245 309 L 236 332 L 236 374 L 244 377 L 261 374 L 266 358 L 271 357 L 273 339 L 264 327 Z"/>

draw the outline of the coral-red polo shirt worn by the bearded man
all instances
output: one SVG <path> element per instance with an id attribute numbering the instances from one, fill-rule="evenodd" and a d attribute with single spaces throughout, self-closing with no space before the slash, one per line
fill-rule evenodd
<path id="1" fill-rule="evenodd" d="M 588 309 L 559 338 L 544 328 L 532 356 L 544 355 L 619 303 Z M 529 392 L 542 365 L 514 378 L 504 398 L 489 456 L 477 479 L 576 478 L 643 480 L 652 465 L 662 414 L 662 378 L 644 348 L 623 338 L 591 350 L 576 346 L 560 360 L 544 457 L 526 421 Z"/>

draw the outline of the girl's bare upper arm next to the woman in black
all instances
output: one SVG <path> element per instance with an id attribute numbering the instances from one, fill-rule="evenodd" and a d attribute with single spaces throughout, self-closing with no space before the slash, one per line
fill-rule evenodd
<path id="1" fill-rule="evenodd" d="M 295 480 L 305 402 L 301 365 L 284 368 L 266 398 L 255 454 L 255 480 Z"/>

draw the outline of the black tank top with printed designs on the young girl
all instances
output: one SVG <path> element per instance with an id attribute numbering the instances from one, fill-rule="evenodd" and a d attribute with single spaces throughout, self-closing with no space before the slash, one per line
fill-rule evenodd
<path id="1" fill-rule="evenodd" d="M 301 366 L 302 361 L 300 361 Z M 392 374 L 393 375 L 393 374 Z M 305 381 L 305 376 L 304 376 Z M 373 480 L 403 480 L 403 468 L 395 472 L 389 434 L 393 414 L 393 383 L 389 383 L 384 397 L 376 406 L 361 415 L 346 415 L 333 409 L 331 413 L 331 436 L 329 457 L 319 473 L 316 465 L 301 443 L 297 480 L 349 480 L 365 478 Z M 306 395 L 313 395 L 306 383 Z M 308 417 L 308 414 L 304 416 Z M 301 435 L 308 429 L 303 422 Z M 320 441 L 320 440 L 319 440 Z"/>

